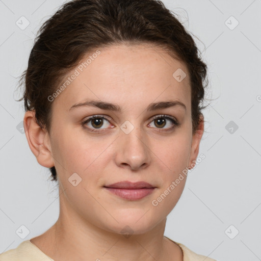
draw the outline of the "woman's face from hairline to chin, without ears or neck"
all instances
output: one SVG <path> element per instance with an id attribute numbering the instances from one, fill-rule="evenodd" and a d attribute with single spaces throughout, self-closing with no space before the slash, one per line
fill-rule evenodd
<path id="1" fill-rule="evenodd" d="M 65 204 L 60 215 L 66 209 L 66 215 L 108 231 L 120 233 L 128 225 L 144 233 L 176 205 L 186 181 L 182 171 L 197 157 L 201 135 L 192 135 L 189 74 L 183 63 L 145 44 L 99 50 L 54 95 L 50 146 Z M 80 106 L 94 100 L 100 108 Z M 180 103 L 151 107 L 167 101 Z M 120 181 L 145 181 L 154 189 L 142 198 L 138 191 L 136 198 L 123 198 L 105 188 Z"/>

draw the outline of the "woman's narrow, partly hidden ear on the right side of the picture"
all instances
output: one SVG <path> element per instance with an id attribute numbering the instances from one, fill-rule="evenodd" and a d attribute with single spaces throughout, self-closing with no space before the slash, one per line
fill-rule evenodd
<path id="1" fill-rule="evenodd" d="M 201 114 L 198 128 L 192 137 L 188 169 L 193 169 L 193 167 L 191 167 L 191 165 L 192 164 L 195 165 L 195 161 L 197 159 L 198 151 L 199 151 L 199 144 L 200 144 L 201 138 L 203 136 L 203 133 L 204 133 L 204 116 Z"/>

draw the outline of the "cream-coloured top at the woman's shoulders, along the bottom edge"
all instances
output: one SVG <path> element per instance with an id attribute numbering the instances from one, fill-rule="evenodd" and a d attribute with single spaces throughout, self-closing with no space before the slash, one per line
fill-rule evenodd
<path id="1" fill-rule="evenodd" d="M 167 237 L 165 236 L 165 238 Z M 184 261 L 217 261 L 210 257 L 196 254 L 186 246 L 177 243 L 173 240 L 171 241 L 176 243 L 182 249 Z M 55 260 L 51 259 L 45 253 L 43 253 L 30 240 L 26 240 L 20 243 L 20 245 L 17 248 L 10 249 L 0 254 L 0 261 L 55 261 Z"/>

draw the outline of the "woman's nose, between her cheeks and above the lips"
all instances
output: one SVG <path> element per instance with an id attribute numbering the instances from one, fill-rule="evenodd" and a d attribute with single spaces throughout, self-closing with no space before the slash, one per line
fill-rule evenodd
<path id="1" fill-rule="evenodd" d="M 146 168 L 151 162 L 149 140 L 140 128 L 134 127 L 130 133 L 120 131 L 117 139 L 116 164 L 131 170 Z"/>

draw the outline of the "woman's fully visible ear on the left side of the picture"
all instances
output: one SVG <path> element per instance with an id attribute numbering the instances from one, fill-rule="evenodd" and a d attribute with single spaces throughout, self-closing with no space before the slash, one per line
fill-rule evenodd
<path id="1" fill-rule="evenodd" d="M 54 167 L 50 137 L 47 131 L 38 125 L 35 111 L 25 112 L 23 127 L 29 147 L 36 156 L 37 162 L 46 168 Z"/>

